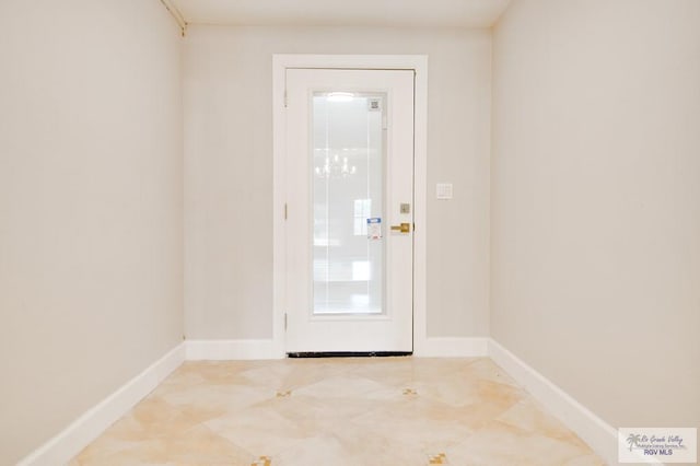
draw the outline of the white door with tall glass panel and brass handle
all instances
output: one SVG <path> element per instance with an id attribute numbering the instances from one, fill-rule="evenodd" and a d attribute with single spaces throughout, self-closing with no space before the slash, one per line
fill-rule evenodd
<path id="1" fill-rule="evenodd" d="M 285 351 L 411 352 L 413 71 L 287 70 Z"/>

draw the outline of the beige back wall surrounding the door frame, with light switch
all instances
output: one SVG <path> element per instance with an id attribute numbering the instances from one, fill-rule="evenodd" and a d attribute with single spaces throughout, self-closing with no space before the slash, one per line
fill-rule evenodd
<path id="1" fill-rule="evenodd" d="M 491 34 L 195 26 L 184 48 L 187 338 L 272 335 L 272 55 L 429 55 L 428 333 L 488 335 Z M 436 182 L 455 199 L 435 201 Z"/>

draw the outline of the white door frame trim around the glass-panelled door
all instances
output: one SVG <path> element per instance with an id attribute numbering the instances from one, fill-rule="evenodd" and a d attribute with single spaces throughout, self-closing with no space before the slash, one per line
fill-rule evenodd
<path id="1" fill-rule="evenodd" d="M 427 55 L 273 55 L 272 56 L 272 345 L 284 358 L 287 303 L 287 119 L 284 110 L 288 68 L 415 70 L 413 128 L 413 354 L 421 356 L 427 340 L 428 249 L 428 56 Z"/>

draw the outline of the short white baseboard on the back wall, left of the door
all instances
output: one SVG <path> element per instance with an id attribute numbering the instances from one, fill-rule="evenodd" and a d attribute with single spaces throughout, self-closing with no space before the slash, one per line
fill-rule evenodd
<path id="1" fill-rule="evenodd" d="M 272 340 L 187 340 L 188 361 L 282 359 L 284 350 Z"/>

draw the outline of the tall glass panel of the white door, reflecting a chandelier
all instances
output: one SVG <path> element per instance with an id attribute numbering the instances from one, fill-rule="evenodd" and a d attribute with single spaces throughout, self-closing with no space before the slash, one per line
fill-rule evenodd
<path id="1" fill-rule="evenodd" d="M 317 92 L 312 105 L 316 315 L 384 313 L 384 94 Z"/>

